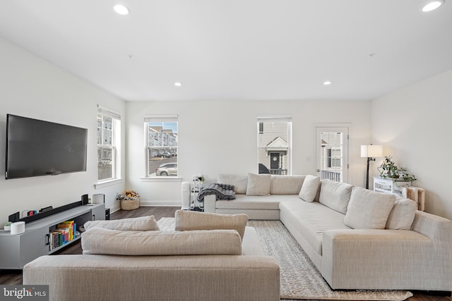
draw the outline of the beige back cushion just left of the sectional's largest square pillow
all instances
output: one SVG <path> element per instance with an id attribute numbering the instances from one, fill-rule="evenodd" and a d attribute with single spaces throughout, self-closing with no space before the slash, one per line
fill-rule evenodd
<path id="1" fill-rule="evenodd" d="M 347 213 L 352 188 L 353 185 L 347 183 L 327 179 L 321 180 L 319 202 L 326 207 L 345 214 Z"/>

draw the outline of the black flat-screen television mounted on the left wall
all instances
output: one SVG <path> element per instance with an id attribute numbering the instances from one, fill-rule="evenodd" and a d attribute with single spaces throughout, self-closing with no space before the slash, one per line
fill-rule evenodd
<path id="1" fill-rule="evenodd" d="M 8 114 L 5 178 L 86 171 L 88 130 Z"/>

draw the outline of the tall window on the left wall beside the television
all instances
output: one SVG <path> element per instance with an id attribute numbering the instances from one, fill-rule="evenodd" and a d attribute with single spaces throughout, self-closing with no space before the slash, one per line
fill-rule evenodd
<path id="1" fill-rule="evenodd" d="M 109 109 L 97 109 L 97 180 L 120 176 L 121 116 Z"/>

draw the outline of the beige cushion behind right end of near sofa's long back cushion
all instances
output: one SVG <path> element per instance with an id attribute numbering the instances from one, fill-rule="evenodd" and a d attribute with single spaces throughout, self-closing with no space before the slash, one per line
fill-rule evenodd
<path id="1" fill-rule="evenodd" d="M 235 230 L 243 239 L 248 216 L 246 214 L 215 214 L 208 212 L 177 210 L 174 213 L 176 231 Z"/>

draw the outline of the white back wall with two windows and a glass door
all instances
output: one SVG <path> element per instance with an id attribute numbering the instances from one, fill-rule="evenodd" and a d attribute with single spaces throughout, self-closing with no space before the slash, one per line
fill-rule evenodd
<path id="1" fill-rule="evenodd" d="M 370 139 L 370 102 L 127 102 L 127 189 L 141 194 L 143 204 L 181 204 L 180 181 L 143 181 L 145 143 L 143 116 L 179 115 L 179 176 L 257 172 L 256 117 L 292 116 L 292 174 L 313 174 L 314 125 L 350 123 L 348 182 L 364 186 L 366 159 L 359 146 Z"/>

